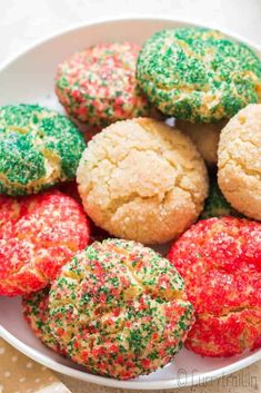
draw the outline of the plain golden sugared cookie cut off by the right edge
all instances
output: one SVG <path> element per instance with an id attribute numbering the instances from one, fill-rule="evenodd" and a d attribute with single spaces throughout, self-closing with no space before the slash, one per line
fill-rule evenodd
<path id="1" fill-rule="evenodd" d="M 261 104 L 249 105 L 228 122 L 218 156 L 225 199 L 243 215 L 261 220 Z"/>

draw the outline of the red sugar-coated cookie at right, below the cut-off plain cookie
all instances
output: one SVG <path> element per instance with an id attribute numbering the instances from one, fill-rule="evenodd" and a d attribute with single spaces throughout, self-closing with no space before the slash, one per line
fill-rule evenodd
<path id="1" fill-rule="evenodd" d="M 172 245 L 169 259 L 184 279 L 197 321 L 185 345 L 204 356 L 261 346 L 261 224 L 201 220 Z"/>

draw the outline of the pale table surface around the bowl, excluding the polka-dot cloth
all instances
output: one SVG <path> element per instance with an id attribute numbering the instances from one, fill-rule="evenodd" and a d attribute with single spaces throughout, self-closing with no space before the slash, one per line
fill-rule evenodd
<path id="1" fill-rule="evenodd" d="M 162 14 L 230 29 L 261 45 L 261 0 L 0 0 L 0 62 L 34 41 L 77 23 L 106 17 L 145 14 Z M 72 393 L 124 392 L 60 377 Z M 261 392 L 261 362 L 231 376 L 181 391 Z"/>

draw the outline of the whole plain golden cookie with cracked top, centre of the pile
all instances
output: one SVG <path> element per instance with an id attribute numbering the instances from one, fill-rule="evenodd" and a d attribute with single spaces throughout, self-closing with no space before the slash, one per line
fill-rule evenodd
<path id="1" fill-rule="evenodd" d="M 149 118 L 94 136 L 77 171 L 87 214 L 111 235 L 144 244 L 174 238 L 197 220 L 208 176 L 192 141 Z"/>

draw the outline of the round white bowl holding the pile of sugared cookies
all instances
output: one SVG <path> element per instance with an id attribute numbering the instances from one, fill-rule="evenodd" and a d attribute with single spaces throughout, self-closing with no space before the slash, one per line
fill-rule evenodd
<path id="1" fill-rule="evenodd" d="M 70 53 L 97 42 L 142 43 L 163 28 L 194 26 L 164 18 L 142 18 L 88 23 L 51 37 L 17 56 L 0 69 L 0 105 L 38 102 L 62 111 L 54 94 L 57 65 Z M 261 48 L 232 33 L 229 37 L 250 45 L 261 57 Z M 169 389 L 205 383 L 261 360 L 261 350 L 227 358 L 201 357 L 183 348 L 173 363 L 148 376 L 117 381 L 89 374 L 83 367 L 48 350 L 23 321 L 20 298 L 0 297 L 0 336 L 34 361 L 76 379 L 124 389 Z"/>

